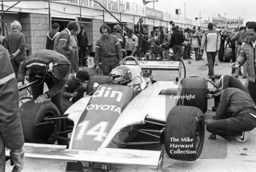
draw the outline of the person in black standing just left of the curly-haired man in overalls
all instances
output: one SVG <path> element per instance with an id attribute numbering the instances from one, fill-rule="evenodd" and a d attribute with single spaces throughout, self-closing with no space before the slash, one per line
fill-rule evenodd
<path id="1" fill-rule="evenodd" d="M 83 63 L 86 63 L 87 60 L 87 50 L 88 50 L 88 36 L 86 34 L 86 26 L 80 28 L 78 34 L 78 47 L 79 47 L 79 64 L 83 66 Z M 86 64 L 87 65 L 87 64 Z"/>

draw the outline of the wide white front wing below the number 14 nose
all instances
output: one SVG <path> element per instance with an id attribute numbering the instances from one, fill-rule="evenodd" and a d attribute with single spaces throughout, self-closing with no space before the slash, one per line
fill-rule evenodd
<path id="1" fill-rule="evenodd" d="M 95 151 L 66 149 L 63 145 L 29 144 L 23 146 L 25 157 L 53 160 L 71 160 L 91 163 L 149 165 L 158 168 L 162 163 L 163 149 L 159 151 L 139 149 L 99 148 Z M 5 149 L 10 156 L 10 150 Z"/>

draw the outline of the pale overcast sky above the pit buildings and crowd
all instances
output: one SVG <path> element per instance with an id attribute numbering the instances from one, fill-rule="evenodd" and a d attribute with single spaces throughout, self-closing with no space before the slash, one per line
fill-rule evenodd
<path id="1" fill-rule="evenodd" d="M 136 3 L 139 4 L 136 0 Z M 148 1 L 148 0 L 146 0 Z M 142 2 L 140 4 L 143 4 Z M 153 3 L 146 4 L 146 7 L 153 7 Z M 184 17 L 184 7 L 186 17 L 195 20 L 201 15 L 203 20 L 217 17 L 219 13 L 227 19 L 244 18 L 247 21 L 256 21 L 256 1 L 255 0 L 158 0 L 155 2 L 155 9 L 163 12 L 175 14 L 175 9 L 181 9 L 181 16 Z"/>

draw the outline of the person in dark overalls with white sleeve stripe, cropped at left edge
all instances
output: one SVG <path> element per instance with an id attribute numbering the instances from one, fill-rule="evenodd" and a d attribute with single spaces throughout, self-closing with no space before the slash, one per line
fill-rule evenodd
<path id="1" fill-rule="evenodd" d="M 13 171 L 23 169 L 23 130 L 20 123 L 18 87 L 9 53 L 0 45 L 0 171 L 5 171 L 5 146 L 15 164 Z"/>

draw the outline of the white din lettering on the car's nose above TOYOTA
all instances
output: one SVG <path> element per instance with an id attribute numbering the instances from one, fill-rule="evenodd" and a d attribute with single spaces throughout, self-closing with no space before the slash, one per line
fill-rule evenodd
<path id="1" fill-rule="evenodd" d="M 116 101 L 120 102 L 123 96 L 121 91 L 111 90 L 111 87 L 101 87 L 100 90 L 95 91 L 92 98 L 116 98 Z"/>

